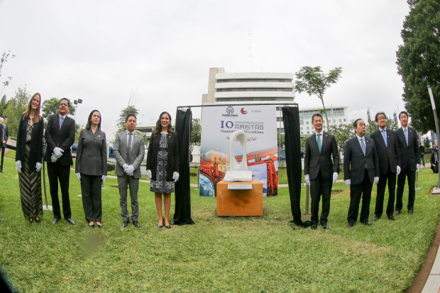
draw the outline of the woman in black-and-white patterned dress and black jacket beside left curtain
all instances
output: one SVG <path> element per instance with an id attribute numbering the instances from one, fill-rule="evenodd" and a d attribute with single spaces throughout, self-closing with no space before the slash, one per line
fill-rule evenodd
<path id="1" fill-rule="evenodd" d="M 158 209 L 158 228 L 162 228 L 162 195 L 165 209 L 165 228 L 171 228 L 168 221 L 171 205 L 171 193 L 174 183 L 179 179 L 179 148 L 177 133 L 171 128 L 171 115 L 162 112 L 150 137 L 147 154 L 147 176 L 150 179 L 150 191 L 154 192 L 156 209 Z"/>

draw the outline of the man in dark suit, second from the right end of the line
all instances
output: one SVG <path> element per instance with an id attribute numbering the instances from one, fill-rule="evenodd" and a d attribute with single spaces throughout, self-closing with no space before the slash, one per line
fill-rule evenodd
<path id="1" fill-rule="evenodd" d="M 387 217 L 394 221 L 394 201 L 396 191 L 396 176 L 400 174 L 400 151 L 397 135 L 395 131 L 387 129 L 387 116 L 385 113 L 378 112 L 375 121 L 379 129 L 373 132 L 370 138 L 373 138 L 379 157 L 379 183 L 378 194 L 376 197 L 375 218 L 378 221 L 383 214 L 383 198 L 385 197 L 385 187 L 388 181 L 388 204 Z"/>

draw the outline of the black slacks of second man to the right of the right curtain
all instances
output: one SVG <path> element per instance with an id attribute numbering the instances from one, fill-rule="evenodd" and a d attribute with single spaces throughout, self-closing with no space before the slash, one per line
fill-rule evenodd
<path id="1" fill-rule="evenodd" d="M 348 223 L 356 223 L 358 221 L 359 204 L 362 197 L 361 219 L 362 223 L 368 222 L 370 216 L 371 189 L 373 182 L 370 182 L 368 170 L 365 169 L 365 175 L 361 184 L 350 185 L 350 208 L 348 209 Z"/>

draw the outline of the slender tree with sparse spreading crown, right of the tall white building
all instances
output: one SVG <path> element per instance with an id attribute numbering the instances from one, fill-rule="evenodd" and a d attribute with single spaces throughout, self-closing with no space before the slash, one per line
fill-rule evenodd
<path id="1" fill-rule="evenodd" d="M 331 84 L 336 84 L 342 74 L 342 67 L 336 67 L 330 70 L 329 74 L 322 73 L 321 67 L 301 67 L 299 72 L 295 73 L 297 80 L 295 81 L 295 91 L 301 94 L 307 92 L 309 96 L 316 94 L 321 99 L 326 114 L 327 129 L 329 128 L 329 118 L 327 118 L 326 106 L 324 105 L 324 93 Z"/>

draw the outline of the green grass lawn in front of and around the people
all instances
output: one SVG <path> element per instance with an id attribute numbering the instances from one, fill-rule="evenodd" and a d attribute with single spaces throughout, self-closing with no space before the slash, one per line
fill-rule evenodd
<path id="1" fill-rule="evenodd" d="M 216 199 L 198 197 L 192 188 L 196 225 L 158 229 L 146 183 L 139 190 L 141 228 L 121 228 L 119 192 L 110 178 L 102 194 L 104 226 L 92 229 L 73 170 L 70 203 L 77 226 L 52 225 L 50 211 L 42 223 L 30 224 L 21 211 L 13 160 L 5 160 L 4 171 L 0 264 L 20 292 L 402 292 L 421 267 L 439 221 L 440 198 L 428 194 L 438 177 L 428 168 L 420 172 L 414 214 L 404 208 L 396 221 L 383 216 L 370 227 L 346 228 L 349 192 L 335 184 L 343 192 L 331 199 L 328 231 L 290 228 L 287 188 L 264 199 L 263 216 L 237 218 L 217 217 Z"/>

